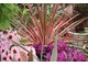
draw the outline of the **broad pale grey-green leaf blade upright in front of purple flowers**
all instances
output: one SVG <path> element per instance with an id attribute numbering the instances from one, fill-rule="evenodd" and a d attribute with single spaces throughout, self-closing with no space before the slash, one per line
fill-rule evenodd
<path id="1" fill-rule="evenodd" d="M 57 61 L 57 35 L 55 36 L 55 44 L 51 56 L 51 62 L 56 62 L 56 61 Z"/>

